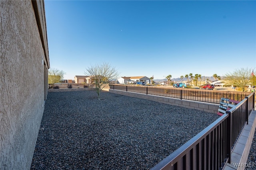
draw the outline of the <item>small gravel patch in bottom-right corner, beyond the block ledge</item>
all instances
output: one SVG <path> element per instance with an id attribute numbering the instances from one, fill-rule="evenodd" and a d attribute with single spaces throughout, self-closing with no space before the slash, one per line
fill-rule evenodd
<path id="1" fill-rule="evenodd" d="M 256 170 L 256 130 L 252 139 L 252 145 L 250 148 L 246 170 Z"/>

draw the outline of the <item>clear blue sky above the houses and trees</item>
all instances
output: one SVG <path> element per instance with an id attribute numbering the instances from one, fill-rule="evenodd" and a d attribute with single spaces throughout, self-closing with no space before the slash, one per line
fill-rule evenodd
<path id="1" fill-rule="evenodd" d="M 256 68 L 256 1 L 45 0 L 50 67 L 120 76 L 224 76 Z"/>

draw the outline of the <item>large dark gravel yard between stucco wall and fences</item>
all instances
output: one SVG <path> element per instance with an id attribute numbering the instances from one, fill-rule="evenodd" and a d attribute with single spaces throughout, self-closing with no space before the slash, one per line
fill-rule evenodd
<path id="1" fill-rule="evenodd" d="M 108 92 L 52 92 L 31 169 L 150 169 L 218 118 Z"/>

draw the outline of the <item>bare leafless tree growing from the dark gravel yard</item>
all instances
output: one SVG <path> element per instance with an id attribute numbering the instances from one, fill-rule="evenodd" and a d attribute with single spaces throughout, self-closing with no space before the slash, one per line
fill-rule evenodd
<path id="1" fill-rule="evenodd" d="M 112 67 L 109 63 L 97 63 L 91 65 L 84 72 L 85 75 L 89 75 L 96 85 L 96 93 L 100 100 L 100 92 L 110 81 L 116 80 L 119 73 L 115 67 Z"/>

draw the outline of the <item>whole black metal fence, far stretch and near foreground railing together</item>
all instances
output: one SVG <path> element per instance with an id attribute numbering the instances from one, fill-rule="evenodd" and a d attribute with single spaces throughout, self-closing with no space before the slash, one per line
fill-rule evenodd
<path id="1" fill-rule="evenodd" d="M 235 107 L 226 111 L 226 114 L 159 162 L 152 170 L 222 169 L 226 162 L 231 162 L 232 149 L 254 110 L 255 94 L 249 92 L 132 85 L 110 85 L 110 89 L 216 104 L 220 103 L 221 97 L 240 101 Z"/>

